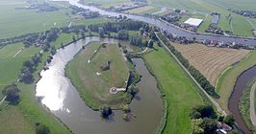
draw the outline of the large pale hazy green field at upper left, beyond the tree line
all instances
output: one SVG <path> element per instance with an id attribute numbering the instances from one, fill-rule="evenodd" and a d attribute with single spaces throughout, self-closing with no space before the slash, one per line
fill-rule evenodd
<path id="1" fill-rule="evenodd" d="M 57 4 L 56 4 L 57 5 Z M 35 10 L 17 10 L 28 6 L 25 0 L 0 0 L 0 38 L 24 33 L 43 32 L 53 27 L 102 23 L 104 18 L 83 19 L 71 14 L 64 6 L 59 11 L 37 12 Z M 68 13 L 68 15 L 66 14 Z"/>

